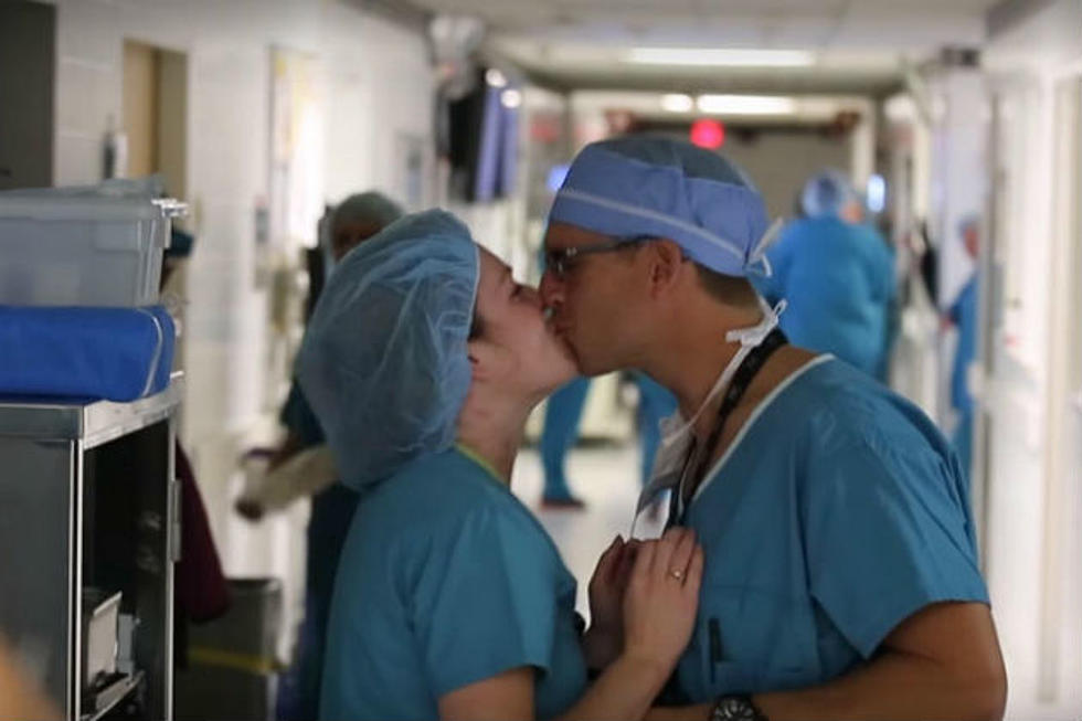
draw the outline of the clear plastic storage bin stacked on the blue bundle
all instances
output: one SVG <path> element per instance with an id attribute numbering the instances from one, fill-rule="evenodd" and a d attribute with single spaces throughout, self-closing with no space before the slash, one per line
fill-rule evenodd
<path id="1" fill-rule="evenodd" d="M 0 304 L 138 307 L 158 303 L 171 200 L 0 193 Z"/>

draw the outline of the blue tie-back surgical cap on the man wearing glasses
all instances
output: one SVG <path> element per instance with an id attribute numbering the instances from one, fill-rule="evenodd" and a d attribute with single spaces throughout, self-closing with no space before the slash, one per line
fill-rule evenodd
<path id="1" fill-rule="evenodd" d="M 763 198 L 744 172 L 717 152 L 665 137 L 583 148 L 549 220 L 614 237 L 667 237 L 694 262 L 732 276 L 763 265 L 768 243 Z"/>

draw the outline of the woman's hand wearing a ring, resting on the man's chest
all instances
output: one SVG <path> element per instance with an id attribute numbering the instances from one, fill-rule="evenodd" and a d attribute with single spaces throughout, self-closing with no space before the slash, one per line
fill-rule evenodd
<path id="1" fill-rule="evenodd" d="M 694 627 L 702 566 L 690 529 L 671 528 L 638 547 L 623 603 L 624 656 L 672 670 Z"/>

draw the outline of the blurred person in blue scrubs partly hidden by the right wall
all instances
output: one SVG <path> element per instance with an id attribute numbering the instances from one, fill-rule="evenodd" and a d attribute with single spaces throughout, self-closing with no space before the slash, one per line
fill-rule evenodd
<path id="1" fill-rule="evenodd" d="M 969 215 L 958 225 L 966 253 L 975 262 L 979 253 L 979 218 Z M 958 291 L 947 311 L 946 321 L 958 328 L 958 347 L 954 352 L 951 371 L 951 404 L 958 414 L 951 441 L 962 459 L 966 478 L 973 470 L 973 394 L 969 392 L 968 370 L 977 354 L 977 301 L 979 299 L 978 273 L 974 268 L 969 280 Z"/>

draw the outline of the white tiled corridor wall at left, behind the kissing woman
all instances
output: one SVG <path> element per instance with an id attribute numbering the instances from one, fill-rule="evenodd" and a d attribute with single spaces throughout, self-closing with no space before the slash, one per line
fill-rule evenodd
<path id="1" fill-rule="evenodd" d="M 257 282 L 255 214 L 268 197 L 270 47 L 321 72 L 327 199 L 375 187 L 397 195 L 397 138 L 432 147 L 433 74 L 423 36 L 336 0 L 57 0 L 57 184 L 100 179 L 119 120 L 124 40 L 188 56 L 188 178 L 197 235 L 188 273 L 183 436 L 226 572 L 287 576 L 296 595 L 306 510 L 253 531 L 231 509 L 236 458 L 273 441 L 268 290 Z M 312 238 L 315 229 L 312 229 Z M 259 263 L 257 263 L 259 262 Z"/>

